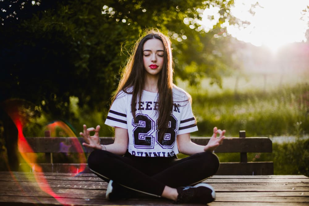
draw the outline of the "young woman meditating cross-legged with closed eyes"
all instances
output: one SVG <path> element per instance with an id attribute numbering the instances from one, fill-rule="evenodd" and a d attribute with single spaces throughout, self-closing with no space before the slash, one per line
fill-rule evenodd
<path id="1" fill-rule="evenodd" d="M 219 168 L 212 151 L 222 143 L 225 130 L 215 127 L 207 145 L 190 140 L 190 132 L 197 131 L 191 97 L 173 84 L 167 36 L 151 30 L 137 41 L 105 124 L 115 128 L 113 144 L 100 144 L 99 125 L 84 125 L 80 135 L 83 145 L 95 149 L 88 166 L 109 183 L 107 199 L 126 199 L 141 192 L 175 203 L 215 200 L 214 189 L 200 182 Z M 178 159 L 179 152 L 190 156 Z"/>

